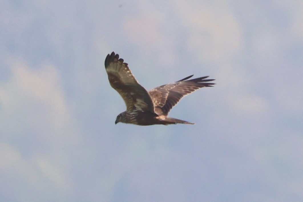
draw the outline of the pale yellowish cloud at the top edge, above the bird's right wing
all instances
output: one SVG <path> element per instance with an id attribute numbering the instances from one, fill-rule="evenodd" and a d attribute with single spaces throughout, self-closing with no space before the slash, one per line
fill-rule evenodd
<path id="1" fill-rule="evenodd" d="M 188 49 L 196 55 L 218 60 L 241 50 L 240 25 L 228 3 L 178 1 L 177 12 L 188 28 Z"/>

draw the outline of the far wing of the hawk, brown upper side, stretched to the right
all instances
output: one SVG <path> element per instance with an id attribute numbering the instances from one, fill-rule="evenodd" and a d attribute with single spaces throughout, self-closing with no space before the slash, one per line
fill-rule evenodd
<path id="1" fill-rule="evenodd" d="M 187 80 L 192 76 L 193 75 L 148 91 L 155 105 L 156 114 L 167 115 L 171 108 L 173 108 L 185 95 L 188 95 L 199 88 L 212 87 L 212 85 L 214 85 L 214 83 L 207 83 L 208 81 L 215 80 L 206 79 L 208 76 Z"/>

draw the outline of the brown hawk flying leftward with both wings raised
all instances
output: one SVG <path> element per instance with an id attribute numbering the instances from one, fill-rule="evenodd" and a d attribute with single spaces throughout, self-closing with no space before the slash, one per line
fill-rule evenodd
<path id="1" fill-rule="evenodd" d="M 112 88 L 121 95 L 126 104 L 126 111 L 117 116 L 118 122 L 136 125 L 154 124 L 193 124 L 176 118 L 169 118 L 168 112 L 185 95 L 202 87 L 212 87 L 208 83 L 215 79 L 206 79 L 208 76 L 188 80 L 193 75 L 171 84 L 158 86 L 146 91 L 128 68 L 128 64 L 118 54 L 112 52 L 105 58 L 105 69 Z"/>

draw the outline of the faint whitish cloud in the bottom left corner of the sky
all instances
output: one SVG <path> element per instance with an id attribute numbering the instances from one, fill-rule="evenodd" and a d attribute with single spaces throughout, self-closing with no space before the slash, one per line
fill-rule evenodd
<path id="1" fill-rule="evenodd" d="M 62 169 L 47 161 L 45 157 L 25 157 L 20 148 L 0 143 L 1 190 L 7 190 L 7 197 L 14 201 L 42 200 L 53 191 L 57 196 L 67 194 L 72 182 L 62 173 Z M 18 193 L 18 194 L 15 194 Z"/>

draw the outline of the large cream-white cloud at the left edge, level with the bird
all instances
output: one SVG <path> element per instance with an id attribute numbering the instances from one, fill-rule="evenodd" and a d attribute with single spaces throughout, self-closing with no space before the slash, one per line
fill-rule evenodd
<path id="1" fill-rule="evenodd" d="M 0 87 L 0 120 L 6 123 L 2 128 L 7 130 L 5 135 L 12 135 L 8 131 L 15 131 L 15 135 L 33 132 L 49 137 L 52 134 L 50 138 L 55 144 L 73 136 L 72 116 L 55 67 L 45 64 L 33 71 L 15 58 L 10 65 L 12 76 Z M 75 134 L 72 140 L 76 139 Z"/>

